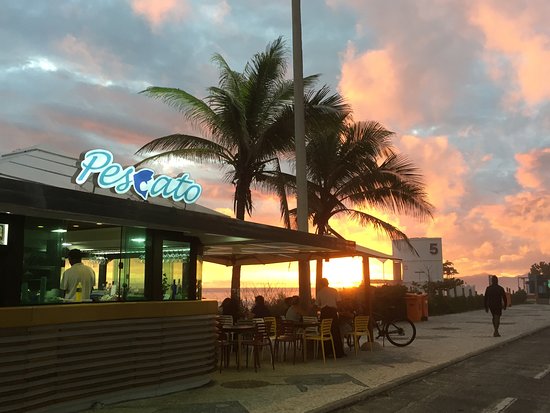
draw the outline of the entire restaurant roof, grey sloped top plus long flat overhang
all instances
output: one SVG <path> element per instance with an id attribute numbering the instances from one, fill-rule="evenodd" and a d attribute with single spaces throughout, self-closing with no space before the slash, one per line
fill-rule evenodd
<path id="1" fill-rule="evenodd" d="M 204 246 L 204 260 L 253 265 L 351 256 L 394 257 L 355 242 L 241 221 L 197 204 L 160 197 L 143 201 L 71 182 L 78 159 L 31 148 L 0 158 L 0 211 L 29 216 L 147 226 L 183 232 Z"/>

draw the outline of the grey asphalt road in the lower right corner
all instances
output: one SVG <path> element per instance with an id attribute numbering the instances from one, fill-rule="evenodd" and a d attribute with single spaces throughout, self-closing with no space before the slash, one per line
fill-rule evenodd
<path id="1" fill-rule="evenodd" d="M 549 344 L 550 328 L 335 412 L 548 413 Z"/>

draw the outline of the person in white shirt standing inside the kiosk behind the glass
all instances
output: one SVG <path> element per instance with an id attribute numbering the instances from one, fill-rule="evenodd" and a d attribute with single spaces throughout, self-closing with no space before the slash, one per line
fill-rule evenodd
<path id="1" fill-rule="evenodd" d="M 65 290 L 65 298 L 69 300 L 88 300 L 95 285 L 95 272 L 82 264 L 82 252 L 79 249 L 70 250 L 67 258 L 71 268 L 63 273 L 60 288 Z M 77 290 L 80 290 L 79 294 Z"/>

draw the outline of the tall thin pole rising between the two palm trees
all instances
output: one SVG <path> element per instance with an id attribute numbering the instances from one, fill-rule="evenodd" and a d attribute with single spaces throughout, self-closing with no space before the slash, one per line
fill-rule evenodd
<path id="1" fill-rule="evenodd" d="M 294 72 L 294 142 L 296 145 L 296 202 L 298 231 L 308 232 L 306 143 L 304 126 L 304 74 L 302 65 L 302 16 L 300 0 L 292 0 L 292 62 Z M 311 302 L 309 261 L 298 263 L 302 305 Z"/>

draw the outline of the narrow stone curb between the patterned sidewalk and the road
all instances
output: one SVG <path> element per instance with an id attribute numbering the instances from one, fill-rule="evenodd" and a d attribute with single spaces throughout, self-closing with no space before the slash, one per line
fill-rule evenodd
<path id="1" fill-rule="evenodd" d="M 403 377 L 400 377 L 398 379 L 392 380 L 388 383 L 381 384 L 380 386 L 376 386 L 372 389 L 363 390 L 359 393 L 348 396 L 344 399 L 335 400 L 335 401 L 327 403 L 327 404 L 325 404 L 321 407 L 317 407 L 317 408 L 311 409 L 311 410 L 306 410 L 305 412 L 306 413 L 330 413 L 330 412 L 334 412 L 335 410 L 338 410 L 338 409 L 343 409 L 345 407 L 352 406 L 352 405 L 354 405 L 356 403 L 359 403 L 363 400 L 374 397 L 374 396 L 376 396 L 380 393 L 390 391 L 390 390 L 392 390 L 392 389 L 394 389 L 398 386 L 401 386 L 405 383 L 408 383 L 408 382 L 417 380 L 419 378 L 425 377 L 425 376 L 427 376 L 431 373 L 435 373 L 439 370 L 443 370 L 444 368 L 447 368 L 447 367 L 452 366 L 454 364 L 458 364 L 461 361 L 468 360 L 469 358 L 478 356 L 480 354 L 483 354 L 483 353 L 485 353 L 487 351 L 490 351 L 490 350 L 493 350 L 495 348 L 503 347 L 503 346 L 505 346 L 509 343 L 512 343 L 512 342 L 517 341 L 519 339 L 522 339 L 524 337 L 529 337 L 529 336 L 531 336 L 533 334 L 536 334 L 539 331 L 545 330 L 547 328 L 550 328 L 550 326 L 547 325 L 547 326 L 536 328 L 535 330 L 519 334 L 515 337 L 500 341 L 498 343 L 492 344 L 488 347 L 484 347 L 484 348 L 481 348 L 481 349 L 476 350 L 476 351 L 472 351 L 468 354 L 465 354 L 465 355 L 457 357 L 455 359 L 446 361 L 446 362 L 438 364 L 436 366 L 428 367 L 428 368 L 420 370 L 416 373 L 412 373 L 412 374 L 409 374 L 407 376 L 403 376 Z"/>

